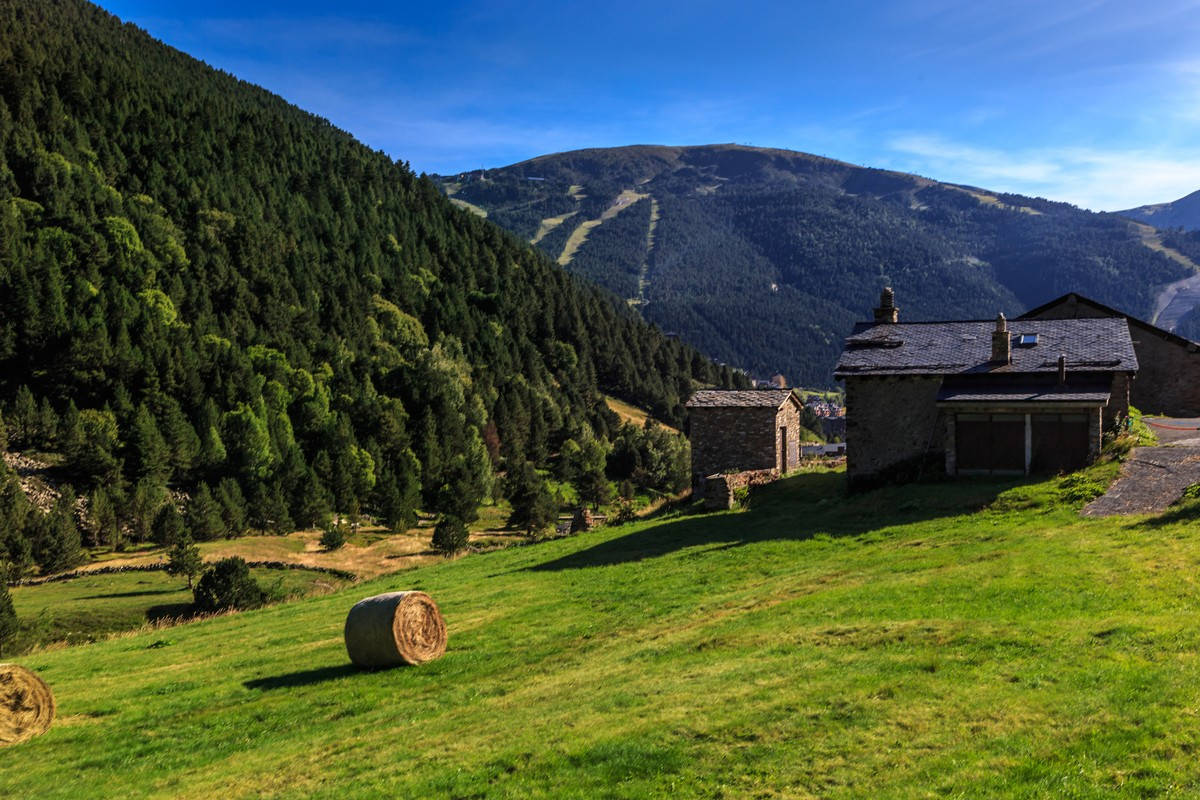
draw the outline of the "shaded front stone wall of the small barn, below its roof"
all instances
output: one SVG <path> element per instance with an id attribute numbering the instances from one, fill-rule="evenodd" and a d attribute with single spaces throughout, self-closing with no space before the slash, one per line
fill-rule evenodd
<path id="1" fill-rule="evenodd" d="M 779 426 L 774 408 L 692 408 L 689 411 L 694 481 L 716 473 L 779 465 L 775 455 Z"/>

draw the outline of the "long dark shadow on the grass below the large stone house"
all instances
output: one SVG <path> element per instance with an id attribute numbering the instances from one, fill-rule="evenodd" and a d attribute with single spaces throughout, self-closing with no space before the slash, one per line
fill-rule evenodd
<path id="1" fill-rule="evenodd" d="M 1034 479 L 1038 480 L 1038 479 Z M 742 513 L 664 518 L 529 571 L 578 570 L 658 558 L 698 545 L 740 547 L 768 540 L 851 537 L 890 525 L 973 513 L 1027 479 L 966 479 L 847 494 L 845 474 L 814 471 L 755 488 Z"/>

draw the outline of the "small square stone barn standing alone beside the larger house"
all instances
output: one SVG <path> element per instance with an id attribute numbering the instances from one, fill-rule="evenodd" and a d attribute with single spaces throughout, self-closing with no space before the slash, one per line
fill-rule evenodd
<path id="1" fill-rule="evenodd" d="M 702 389 L 688 408 L 692 485 L 718 473 L 800 464 L 800 399 L 790 389 Z"/>

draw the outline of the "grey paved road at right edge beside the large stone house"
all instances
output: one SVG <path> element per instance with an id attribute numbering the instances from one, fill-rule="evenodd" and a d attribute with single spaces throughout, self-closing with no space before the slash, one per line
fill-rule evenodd
<path id="1" fill-rule="evenodd" d="M 1134 447 L 1109 491 L 1086 506 L 1085 517 L 1162 513 L 1183 489 L 1200 483 L 1200 419 L 1146 417 L 1160 443 Z"/>

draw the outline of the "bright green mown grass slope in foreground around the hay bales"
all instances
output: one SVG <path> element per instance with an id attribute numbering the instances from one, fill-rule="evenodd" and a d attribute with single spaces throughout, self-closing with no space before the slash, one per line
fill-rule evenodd
<path id="1" fill-rule="evenodd" d="M 1200 510 L 1082 519 L 1088 481 L 1060 483 L 805 473 L 34 652 L 60 717 L 0 796 L 1195 796 Z M 413 588 L 445 657 L 353 669 L 346 612 Z"/>

